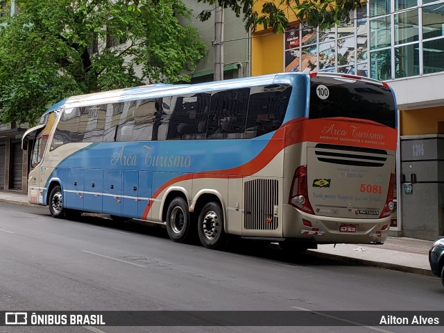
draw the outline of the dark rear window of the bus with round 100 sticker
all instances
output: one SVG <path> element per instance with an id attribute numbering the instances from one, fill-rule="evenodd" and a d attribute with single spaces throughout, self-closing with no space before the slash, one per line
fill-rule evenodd
<path id="1" fill-rule="evenodd" d="M 396 127 L 395 100 L 388 88 L 364 80 L 315 76 L 309 119 L 349 117 Z"/>

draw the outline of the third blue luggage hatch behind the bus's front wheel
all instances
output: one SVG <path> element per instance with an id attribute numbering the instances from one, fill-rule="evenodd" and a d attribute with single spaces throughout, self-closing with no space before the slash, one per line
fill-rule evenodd
<path id="1" fill-rule="evenodd" d="M 103 211 L 121 216 L 121 195 L 121 170 L 103 170 Z"/>

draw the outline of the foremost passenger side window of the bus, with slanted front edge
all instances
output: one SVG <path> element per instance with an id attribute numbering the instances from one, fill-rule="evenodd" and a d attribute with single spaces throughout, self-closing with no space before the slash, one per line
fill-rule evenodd
<path id="1" fill-rule="evenodd" d="M 78 142 L 78 124 L 80 120 L 80 109 L 69 108 L 62 111 L 62 115 L 54 132 L 51 150 L 67 143 Z"/>

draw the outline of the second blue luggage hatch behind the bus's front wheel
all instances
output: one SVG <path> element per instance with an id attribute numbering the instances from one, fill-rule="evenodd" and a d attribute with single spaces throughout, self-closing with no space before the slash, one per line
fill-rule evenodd
<path id="1" fill-rule="evenodd" d="M 85 211 L 102 212 L 103 170 L 92 169 L 85 172 Z"/>

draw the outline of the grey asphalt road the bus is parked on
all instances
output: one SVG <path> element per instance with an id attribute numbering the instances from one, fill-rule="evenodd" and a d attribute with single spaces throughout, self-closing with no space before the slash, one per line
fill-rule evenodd
<path id="1" fill-rule="evenodd" d="M 241 243 L 173 243 L 162 227 L 0 203 L 2 311 L 436 311 L 436 279 Z M 332 318 L 330 318 L 332 319 Z M 334 320 L 334 319 L 333 319 Z M 0 332 L 319 332 L 319 327 L 0 327 Z M 418 327 L 321 327 L 419 332 Z M 420 332 L 442 332 L 421 327 Z"/>

